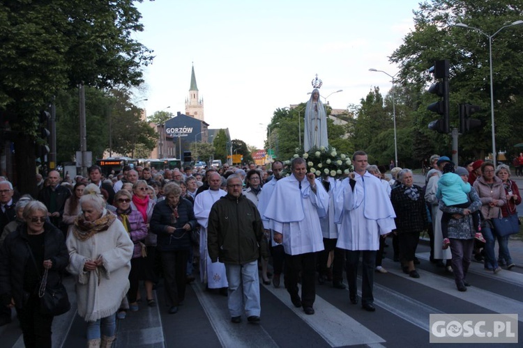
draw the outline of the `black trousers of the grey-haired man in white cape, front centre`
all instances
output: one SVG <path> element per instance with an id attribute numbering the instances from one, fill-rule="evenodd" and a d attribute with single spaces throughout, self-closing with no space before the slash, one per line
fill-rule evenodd
<path id="1" fill-rule="evenodd" d="M 301 272 L 301 305 L 312 307 L 316 299 L 316 253 L 285 254 L 285 287 L 291 296 L 298 295 L 298 275 Z"/>

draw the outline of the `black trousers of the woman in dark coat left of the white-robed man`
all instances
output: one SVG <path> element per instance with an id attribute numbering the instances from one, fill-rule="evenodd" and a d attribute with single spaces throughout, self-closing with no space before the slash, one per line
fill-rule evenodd
<path id="1" fill-rule="evenodd" d="M 185 271 L 188 250 L 160 251 L 165 285 L 165 303 L 167 306 L 178 306 L 185 299 Z"/>

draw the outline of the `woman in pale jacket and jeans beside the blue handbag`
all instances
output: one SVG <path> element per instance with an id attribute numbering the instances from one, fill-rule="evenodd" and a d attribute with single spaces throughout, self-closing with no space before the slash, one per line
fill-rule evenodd
<path id="1" fill-rule="evenodd" d="M 481 165 L 481 176 L 473 184 L 474 189 L 478 191 L 481 200 L 481 214 L 483 222 L 481 223 L 481 234 L 485 238 L 485 270 L 498 273 L 501 271 L 496 254 L 494 253 L 494 226 L 492 219 L 497 219 L 501 214 L 501 207 L 506 205 L 507 198 L 505 188 L 501 179 L 494 175 L 494 164 L 484 162 Z"/>

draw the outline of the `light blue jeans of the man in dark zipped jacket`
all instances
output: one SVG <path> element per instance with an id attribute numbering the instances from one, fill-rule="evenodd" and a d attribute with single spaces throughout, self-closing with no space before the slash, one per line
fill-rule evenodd
<path id="1" fill-rule="evenodd" d="M 259 316 L 258 261 L 246 264 L 225 264 L 227 281 L 229 282 L 229 313 L 231 317 L 239 317 L 245 308 L 245 315 Z"/>

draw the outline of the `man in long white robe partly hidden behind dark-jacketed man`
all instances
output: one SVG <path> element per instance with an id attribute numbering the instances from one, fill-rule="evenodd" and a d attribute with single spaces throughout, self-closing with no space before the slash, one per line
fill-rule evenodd
<path id="1" fill-rule="evenodd" d="M 213 172 L 207 180 L 209 189 L 197 194 L 195 198 L 195 216 L 199 223 L 199 276 L 202 283 L 207 283 L 209 289 L 227 288 L 227 276 L 225 274 L 225 264 L 222 262 L 211 262 L 209 251 L 207 250 L 207 225 L 209 214 L 215 201 L 227 194 L 220 189 L 222 177 L 218 172 Z"/>

